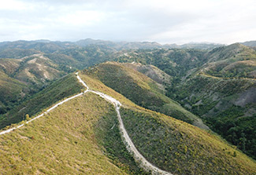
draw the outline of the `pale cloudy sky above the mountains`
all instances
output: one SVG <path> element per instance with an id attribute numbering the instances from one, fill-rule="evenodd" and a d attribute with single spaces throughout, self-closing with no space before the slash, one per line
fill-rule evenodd
<path id="1" fill-rule="evenodd" d="M 255 0 L 0 0 L 0 42 L 256 40 Z"/>

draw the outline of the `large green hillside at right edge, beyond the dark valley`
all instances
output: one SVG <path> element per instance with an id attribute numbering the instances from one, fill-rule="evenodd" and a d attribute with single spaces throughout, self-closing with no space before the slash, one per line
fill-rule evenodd
<path id="1" fill-rule="evenodd" d="M 208 56 L 201 69 L 169 88 L 169 97 L 255 159 L 256 53 L 234 44 L 213 49 Z"/>

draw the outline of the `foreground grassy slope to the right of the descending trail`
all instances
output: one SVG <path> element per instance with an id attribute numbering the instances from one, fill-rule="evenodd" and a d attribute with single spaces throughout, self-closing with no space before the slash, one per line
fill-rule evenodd
<path id="1" fill-rule="evenodd" d="M 255 161 L 220 137 L 186 122 L 136 106 L 97 79 L 80 76 L 91 89 L 121 101 L 124 126 L 136 148 L 162 169 L 175 174 L 256 173 Z"/>

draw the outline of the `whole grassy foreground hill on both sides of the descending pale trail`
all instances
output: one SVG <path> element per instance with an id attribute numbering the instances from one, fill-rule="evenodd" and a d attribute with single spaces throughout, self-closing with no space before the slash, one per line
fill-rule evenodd
<path id="1" fill-rule="evenodd" d="M 218 137 L 136 106 L 88 75 L 81 75 L 81 78 L 90 89 L 121 101 L 125 128 L 135 147 L 154 165 L 174 174 L 256 173 L 253 160 Z M 43 118 L 0 136 L 1 170 L 6 174 L 139 173 L 132 169 L 133 160 L 128 157 L 127 151 L 120 150 L 117 144 L 108 140 L 109 133 L 104 132 L 117 130 L 117 120 L 112 120 L 113 116 L 117 118 L 113 106 L 93 93 L 87 92 L 69 100 Z M 121 137 L 115 134 L 117 143 L 120 143 Z M 112 148 L 120 151 L 113 151 Z M 165 159 L 164 163 L 162 159 Z M 121 168 L 118 169 L 113 163 Z"/>

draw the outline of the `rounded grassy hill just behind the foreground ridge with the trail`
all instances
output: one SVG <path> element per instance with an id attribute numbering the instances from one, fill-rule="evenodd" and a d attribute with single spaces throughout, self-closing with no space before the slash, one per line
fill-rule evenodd
<path id="1" fill-rule="evenodd" d="M 159 111 L 189 123 L 198 121 L 198 118 L 191 112 L 165 97 L 152 79 L 139 71 L 125 67 L 124 64 L 108 62 L 99 64 L 87 72 L 96 75 L 95 77 L 104 82 L 106 86 L 115 89 L 143 108 Z M 206 126 L 202 127 L 207 128 Z"/>

